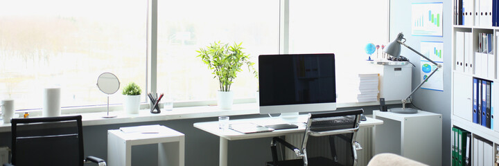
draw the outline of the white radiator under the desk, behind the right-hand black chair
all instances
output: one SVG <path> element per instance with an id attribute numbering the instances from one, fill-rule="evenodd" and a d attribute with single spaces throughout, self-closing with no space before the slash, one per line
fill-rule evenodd
<path id="1" fill-rule="evenodd" d="M 372 127 L 362 127 L 357 132 L 356 140 L 362 146 L 362 150 L 357 151 L 357 158 L 359 166 L 365 166 L 371 160 L 373 156 L 373 129 Z M 290 142 L 295 147 L 301 147 L 301 142 L 303 142 L 303 133 L 296 133 L 286 135 L 286 141 Z M 315 138 L 309 137 L 308 145 L 307 145 L 307 154 L 320 155 L 320 156 L 331 156 L 331 151 L 329 148 L 324 148 L 324 145 L 329 145 L 329 139 L 326 137 Z M 347 147 L 345 144 L 335 144 L 338 149 L 347 149 L 351 147 Z M 286 150 L 285 152 L 286 159 L 295 159 L 297 158 L 295 153 L 290 150 Z M 310 156 L 309 157 L 313 157 Z"/>

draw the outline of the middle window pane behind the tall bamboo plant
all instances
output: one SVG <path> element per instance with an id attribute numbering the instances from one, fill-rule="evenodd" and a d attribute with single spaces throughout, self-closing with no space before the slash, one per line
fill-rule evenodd
<path id="1" fill-rule="evenodd" d="M 196 50 L 219 41 L 242 42 L 252 62 L 279 53 L 279 1 L 159 1 L 158 93 L 175 101 L 216 99 L 218 81 Z M 231 86 L 234 98 L 254 98 L 257 82 L 243 66 Z"/>

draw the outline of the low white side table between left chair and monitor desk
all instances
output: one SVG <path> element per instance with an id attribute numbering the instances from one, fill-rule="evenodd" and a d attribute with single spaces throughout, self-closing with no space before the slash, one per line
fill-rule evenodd
<path id="1" fill-rule="evenodd" d="M 159 125 L 135 129 L 128 132 L 120 129 L 107 131 L 107 165 L 130 166 L 132 146 L 158 144 L 158 165 L 184 166 L 184 133 Z"/>

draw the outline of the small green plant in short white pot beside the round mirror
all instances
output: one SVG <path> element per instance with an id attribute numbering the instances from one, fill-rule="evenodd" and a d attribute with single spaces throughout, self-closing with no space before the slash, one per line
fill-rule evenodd
<path id="1" fill-rule="evenodd" d="M 124 95 L 123 109 L 126 113 L 139 113 L 141 92 L 140 86 L 134 82 L 128 83 L 128 85 L 123 88 L 121 94 Z"/>

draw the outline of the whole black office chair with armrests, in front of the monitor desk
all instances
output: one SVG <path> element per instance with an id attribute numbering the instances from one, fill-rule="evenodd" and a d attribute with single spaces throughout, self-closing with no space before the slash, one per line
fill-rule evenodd
<path id="1" fill-rule="evenodd" d="M 278 137 L 272 138 L 270 149 L 272 151 L 272 161 L 267 165 L 357 165 L 357 150 L 362 149 L 356 142 L 356 135 L 359 128 L 360 114 L 362 109 L 351 111 L 335 111 L 333 113 L 308 114 L 308 122 L 301 143 L 301 149 L 291 145 Z M 329 137 L 329 150 L 331 156 L 308 157 L 306 145 L 308 136 Z M 279 160 L 277 154 L 277 143 L 295 152 L 298 159 Z M 346 146 L 340 146 L 346 145 Z M 286 150 L 286 149 L 285 149 Z"/>

